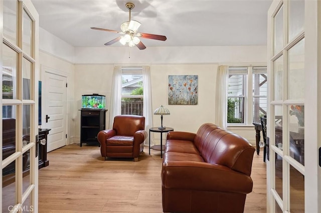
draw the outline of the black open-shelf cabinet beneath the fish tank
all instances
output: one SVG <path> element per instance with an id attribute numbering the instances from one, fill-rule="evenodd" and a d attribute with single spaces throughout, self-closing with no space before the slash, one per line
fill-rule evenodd
<path id="1" fill-rule="evenodd" d="M 105 129 L 105 118 L 107 109 L 80 109 L 81 129 L 80 146 L 82 143 L 92 143 L 99 145 L 97 134 Z"/>

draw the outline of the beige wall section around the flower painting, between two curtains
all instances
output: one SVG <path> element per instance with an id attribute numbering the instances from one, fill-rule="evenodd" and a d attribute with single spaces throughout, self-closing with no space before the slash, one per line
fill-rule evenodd
<path id="1" fill-rule="evenodd" d="M 150 66 L 152 108 L 162 104 L 171 114 L 163 124 L 179 131 L 196 132 L 205 122 L 214 122 L 217 64 L 155 64 Z M 168 105 L 169 75 L 198 75 L 197 105 Z M 161 125 L 161 117 L 153 115 L 153 126 Z"/>

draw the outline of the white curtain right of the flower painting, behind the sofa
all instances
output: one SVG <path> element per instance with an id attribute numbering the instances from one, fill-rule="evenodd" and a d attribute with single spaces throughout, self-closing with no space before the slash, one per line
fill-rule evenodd
<path id="1" fill-rule="evenodd" d="M 227 128 L 228 76 L 228 66 L 219 66 L 216 76 L 215 124 L 223 129 Z"/>

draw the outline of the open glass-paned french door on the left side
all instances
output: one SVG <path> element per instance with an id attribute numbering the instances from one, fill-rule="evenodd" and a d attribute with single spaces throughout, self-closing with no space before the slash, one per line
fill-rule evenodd
<path id="1" fill-rule="evenodd" d="M 2 212 L 38 212 L 39 16 L 31 0 L 0 0 Z"/>

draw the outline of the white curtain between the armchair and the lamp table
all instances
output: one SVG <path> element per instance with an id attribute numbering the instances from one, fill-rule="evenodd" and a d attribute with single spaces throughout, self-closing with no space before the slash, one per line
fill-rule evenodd
<path id="1" fill-rule="evenodd" d="M 151 83 L 150 83 L 150 68 L 149 66 L 142 67 L 142 82 L 143 82 L 143 116 L 145 116 L 145 130 L 152 127 L 152 108 L 151 108 Z M 144 144 L 147 145 L 149 134 Z"/>

